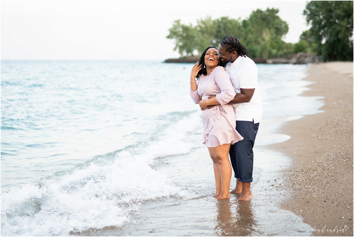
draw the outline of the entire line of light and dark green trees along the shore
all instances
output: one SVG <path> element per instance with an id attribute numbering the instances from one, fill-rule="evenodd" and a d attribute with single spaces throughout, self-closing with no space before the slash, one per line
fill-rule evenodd
<path id="1" fill-rule="evenodd" d="M 313 52 L 323 60 L 353 61 L 353 1 L 310 1 L 303 15 L 310 29 L 295 44 L 283 39 L 289 26 L 278 16 L 279 10 L 257 9 L 241 20 L 229 17 L 199 19 L 195 26 L 176 20 L 168 39 L 175 40 L 181 57 L 200 55 L 209 46 L 218 46 L 226 35 L 233 35 L 246 46 L 253 58 L 290 57 L 297 52 Z"/>

